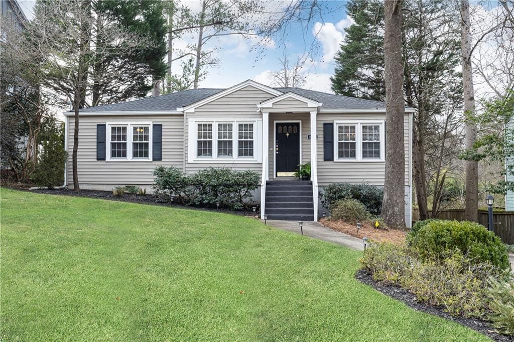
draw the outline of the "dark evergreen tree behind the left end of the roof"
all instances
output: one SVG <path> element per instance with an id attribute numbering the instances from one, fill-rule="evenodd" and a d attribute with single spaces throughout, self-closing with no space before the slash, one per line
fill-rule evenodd
<path id="1" fill-rule="evenodd" d="M 166 74 L 166 18 L 163 2 L 158 0 L 98 1 L 93 5 L 96 30 L 121 27 L 148 40 L 145 46 L 126 49 L 124 53 L 97 54 L 93 61 L 91 106 L 142 98 L 153 88 L 152 79 Z M 116 51 L 118 42 L 103 41 L 97 35 L 96 44 L 104 51 Z M 110 47 L 110 49 L 109 49 Z"/>

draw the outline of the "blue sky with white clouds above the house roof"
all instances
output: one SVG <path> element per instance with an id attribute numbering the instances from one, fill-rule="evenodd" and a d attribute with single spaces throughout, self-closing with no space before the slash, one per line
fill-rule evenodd
<path id="1" fill-rule="evenodd" d="M 33 17 L 32 8 L 34 1 L 19 0 L 25 15 L 29 20 Z M 199 1 L 188 0 L 188 6 L 193 10 L 198 8 Z M 262 44 L 262 48 L 253 49 L 260 43 L 258 37 L 245 39 L 242 36 L 226 36 L 215 42 L 221 49 L 217 50 L 216 57 L 221 63 L 210 68 L 201 88 L 227 88 L 247 79 L 267 85 L 272 85 L 270 70 L 280 69 L 279 58 L 286 53 L 291 59 L 296 60 L 298 55 L 310 52 L 309 60 L 303 68 L 306 82 L 303 88 L 318 91 L 332 92 L 330 77 L 334 73 L 334 56 L 339 45 L 344 39 L 345 28 L 351 22 L 346 18 L 344 1 L 325 2 L 331 13 L 327 13 L 318 21 L 309 23 L 308 27 L 293 26 L 287 32 L 285 44 L 275 41 Z M 176 42 L 177 46 L 183 46 L 194 41 L 193 37 L 184 37 Z M 314 49 L 310 49 L 310 46 Z M 310 60 L 311 59 L 311 60 Z M 179 71 L 176 63 L 174 72 Z"/>

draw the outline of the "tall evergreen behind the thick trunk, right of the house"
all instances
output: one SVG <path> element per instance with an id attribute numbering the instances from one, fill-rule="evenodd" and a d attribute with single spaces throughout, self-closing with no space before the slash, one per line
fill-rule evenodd
<path id="1" fill-rule="evenodd" d="M 432 216 L 440 210 L 445 186 L 444 169 L 450 160 L 448 139 L 454 139 L 456 111 L 462 105 L 462 77 L 457 11 L 442 0 L 403 2 L 402 54 L 405 102 L 417 109 L 413 127 L 414 184 L 422 219 L 429 216 L 427 197 L 432 196 Z M 354 24 L 336 56 L 332 89 L 346 96 L 384 101 L 383 4 L 378 0 L 352 0 L 347 5 Z M 458 144 L 451 145 L 458 148 Z M 427 167 L 427 163 L 430 167 Z M 446 163 L 446 165 L 445 165 Z M 430 169 L 430 173 L 427 172 Z M 432 191 L 427 184 L 434 184 Z"/>

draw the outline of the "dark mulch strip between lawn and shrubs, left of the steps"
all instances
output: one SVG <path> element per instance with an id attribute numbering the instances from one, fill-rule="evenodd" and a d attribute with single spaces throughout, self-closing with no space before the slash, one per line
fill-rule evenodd
<path id="1" fill-rule="evenodd" d="M 133 195 L 133 194 L 125 194 L 122 197 L 114 196 L 112 191 L 100 191 L 100 190 L 81 190 L 74 191 L 72 189 L 36 189 L 36 190 L 28 190 L 24 188 L 16 188 L 17 190 L 24 190 L 30 193 L 37 194 L 49 194 L 49 195 L 64 195 L 64 196 L 74 196 L 74 197 L 87 197 L 87 198 L 96 198 L 96 199 L 104 199 L 109 201 L 119 201 L 119 202 L 129 202 L 129 203 L 140 203 L 140 204 L 150 204 L 150 205 L 160 205 L 160 206 L 169 206 L 183 209 L 194 209 L 194 210 L 203 210 L 210 212 L 218 212 L 218 213 L 226 213 L 226 214 L 235 214 L 246 217 L 253 217 L 253 213 L 246 210 L 241 211 L 231 211 L 227 209 L 220 208 L 216 210 L 215 208 L 206 208 L 206 207 L 196 207 L 196 206 L 188 206 L 181 205 L 178 203 L 170 203 L 163 202 L 158 197 L 154 195 Z M 258 217 L 259 213 L 255 214 Z"/>

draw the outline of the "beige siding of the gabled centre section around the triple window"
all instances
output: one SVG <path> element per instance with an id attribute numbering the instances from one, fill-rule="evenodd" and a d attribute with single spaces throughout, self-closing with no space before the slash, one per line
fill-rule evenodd
<path id="1" fill-rule="evenodd" d="M 242 88 L 234 91 L 227 96 L 214 100 L 203 106 L 195 108 L 194 113 L 186 114 L 186 122 L 190 119 L 194 120 L 214 120 L 214 119 L 228 119 L 228 120 L 247 120 L 247 119 L 262 119 L 262 114 L 257 111 L 257 104 L 262 101 L 268 100 L 274 97 L 272 94 L 257 89 L 252 86 Z M 186 137 L 189 134 L 188 124 L 186 124 Z M 188 139 L 186 138 L 186 145 Z M 259 137 L 257 143 L 262 143 Z M 257 146 L 254 146 L 256 150 Z M 185 148 L 185 167 L 184 170 L 187 173 L 194 173 L 199 169 L 203 169 L 209 166 L 214 167 L 230 167 L 234 170 L 254 170 L 262 173 L 262 163 L 235 163 L 231 161 L 212 161 L 205 163 L 189 163 L 188 162 L 188 146 Z"/>

